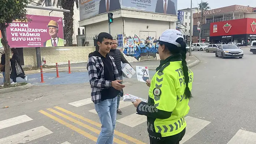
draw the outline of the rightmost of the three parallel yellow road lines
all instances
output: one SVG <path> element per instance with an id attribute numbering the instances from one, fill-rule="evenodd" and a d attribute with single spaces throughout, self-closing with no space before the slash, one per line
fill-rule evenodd
<path id="1" fill-rule="evenodd" d="M 92 121 L 92 120 L 90 120 L 90 119 L 88 119 L 88 118 L 85 118 L 85 117 L 81 116 L 81 115 L 78 115 L 78 114 L 76 114 L 76 113 L 70 112 L 70 111 L 65 110 L 65 109 L 63 109 L 63 108 L 60 108 L 59 106 L 55 106 L 54 108 L 56 108 L 56 109 L 58 109 L 58 110 L 61 110 L 61 111 L 64 112 L 64 113 L 70 114 L 70 115 L 72 115 L 73 117 L 77 117 L 77 118 L 79 118 L 79 119 L 82 119 L 83 121 L 86 121 L 86 122 L 88 122 L 88 123 L 90 123 L 90 124 L 92 124 L 92 125 L 95 125 L 95 126 L 97 126 L 97 127 L 101 127 L 101 124 L 100 124 L 100 123 L 94 122 L 94 121 Z M 143 143 L 142 141 L 139 141 L 139 140 L 137 140 L 137 139 L 135 139 L 135 138 L 132 138 L 131 136 L 125 135 L 125 134 L 123 134 L 123 133 L 121 133 L 121 132 L 118 132 L 118 131 L 116 131 L 116 130 L 115 130 L 115 134 L 118 135 L 118 136 L 121 136 L 121 137 L 124 138 L 124 139 L 127 139 L 127 140 L 129 140 L 129 141 L 132 141 L 133 143 L 136 143 L 136 144 L 146 144 L 146 143 Z"/>

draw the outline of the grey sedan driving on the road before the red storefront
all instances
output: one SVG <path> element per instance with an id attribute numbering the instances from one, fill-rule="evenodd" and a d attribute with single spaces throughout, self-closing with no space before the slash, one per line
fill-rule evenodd
<path id="1" fill-rule="evenodd" d="M 241 48 L 234 44 L 222 44 L 216 49 L 215 56 L 225 57 L 239 57 L 243 58 L 244 52 Z"/>

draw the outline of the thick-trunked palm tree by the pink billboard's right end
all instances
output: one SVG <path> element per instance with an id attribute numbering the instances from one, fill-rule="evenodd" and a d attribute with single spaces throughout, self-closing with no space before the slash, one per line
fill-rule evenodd
<path id="1" fill-rule="evenodd" d="M 41 5 L 45 0 L 38 0 L 38 5 Z M 70 10 L 70 13 L 64 12 L 64 39 L 66 40 L 66 44 L 68 47 L 72 46 L 73 34 L 74 34 L 74 3 L 76 3 L 76 7 L 78 8 L 78 0 L 53 0 L 52 6 L 60 6 L 63 9 Z"/>

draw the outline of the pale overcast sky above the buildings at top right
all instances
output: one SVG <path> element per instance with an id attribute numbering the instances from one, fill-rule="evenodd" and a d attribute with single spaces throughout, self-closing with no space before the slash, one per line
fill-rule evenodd
<path id="1" fill-rule="evenodd" d="M 191 0 L 178 0 L 178 9 L 190 8 Z M 203 0 L 204 2 L 206 0 Z M 222 8 L 230 5 L 244 5 L 256 7 L 256 3 L 253 4 L 253 0 L 207 0 L 211 9 Z M 201 0 L 192 0 L 192 7 L 198 7 Z"/>

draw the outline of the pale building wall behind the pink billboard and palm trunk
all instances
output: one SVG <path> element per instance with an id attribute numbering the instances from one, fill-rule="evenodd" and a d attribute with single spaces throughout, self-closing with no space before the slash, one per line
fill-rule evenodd
<path id="1" fill-rule="evenodd" d="M 31 1 L 29 5 L 37 5 L 37 3 L 35 3 L 35 2 L 36 1 L 34 1 L 34 2 Z M 42 4 L 42 7 L 45 7 L 45 3 Z M 47 6 L 47 7 L 58 8 L 57 6 L 54 6 L 54 7 Z M 39 15 L 39 16 L 49 16 L 50 12 L 51 12 L 50 10 L 27 8 L 27 14 L 34 14 L 34 15 Z M 53 12 L 50 13 L 50 16 L 64 18 L 63 12 L 53 11 Z M 79 9 L 76 8 L 76 4 L 74 5 L 74 16 L 73 16 L 73 18 L 74 18 L 74 25 L 73 25 L 74 34 L 73 34 L 72 38 L 73 38 L 73 44 L 76 44 L 77 43 L 76 35 L 78 35 L 78 27 L 79 27 L 78 21 L 80 20 Z M 84 27 L 80 27 L 81 34 L 82 34 L 82 29 L 84 29 Z"/>

